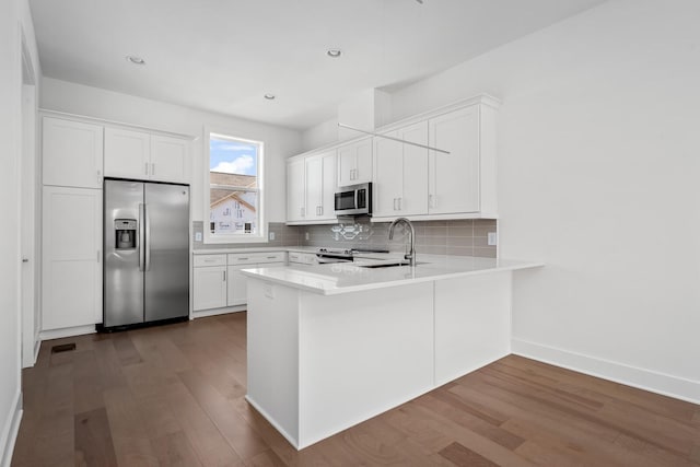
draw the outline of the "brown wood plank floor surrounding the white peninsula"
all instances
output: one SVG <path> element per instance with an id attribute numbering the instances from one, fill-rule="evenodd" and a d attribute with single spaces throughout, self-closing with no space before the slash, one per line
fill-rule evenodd
<path id="1" fill-rule="evenodd" d="M 515 355 L 296 452 L 244 399 L 245 326 L 44 342 L 12 465 L 700 466 L 700 406 Z"/>

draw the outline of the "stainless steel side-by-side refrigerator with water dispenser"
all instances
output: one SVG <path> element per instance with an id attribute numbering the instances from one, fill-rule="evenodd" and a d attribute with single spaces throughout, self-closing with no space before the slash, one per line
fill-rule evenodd
<path id="1" fill-rule="evenodd" d="M 189 187 L 105 179 L 104 320 L 109 330 L 189 315 Z"/>

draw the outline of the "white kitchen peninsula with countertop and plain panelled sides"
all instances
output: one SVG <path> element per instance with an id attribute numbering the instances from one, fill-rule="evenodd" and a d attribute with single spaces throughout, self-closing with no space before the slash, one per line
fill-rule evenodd
<path id="1" fill-rule="evenodd" d="M 406 402 L 510 353 L 513 271 L 539 266 L 246 269 L 247 400 L 300 450 Z"/>

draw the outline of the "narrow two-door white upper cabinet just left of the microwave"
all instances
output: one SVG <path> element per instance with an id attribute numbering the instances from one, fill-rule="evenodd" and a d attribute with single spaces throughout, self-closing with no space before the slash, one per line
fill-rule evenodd
<path id="1" fill-rule="evenodd" d="M 336 151 L 305 157 L 305 219 L 325 221 L 336 219 L 335 192 Z"/>

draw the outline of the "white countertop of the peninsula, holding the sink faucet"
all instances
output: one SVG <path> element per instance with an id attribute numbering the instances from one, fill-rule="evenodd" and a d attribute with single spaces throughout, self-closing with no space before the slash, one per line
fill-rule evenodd
<path id="1" fill-rule="evenodd" d="M 279 248 L 278 248 L 279 249 Z M 417 282 L 541 267 L 536 261 L 472 256 L 418 255 L 418 265 L 363 268 L 352 262 L 244 269 L 243 275 L 322 295 L 360 292 Z"/>

